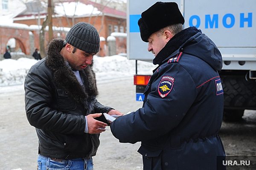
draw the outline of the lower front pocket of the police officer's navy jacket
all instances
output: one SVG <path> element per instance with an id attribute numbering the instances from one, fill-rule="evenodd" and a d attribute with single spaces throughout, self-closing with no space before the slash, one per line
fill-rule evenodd
<path id="1" fill-rule="evenodd" d="M 138 153 L 143 157 L 143 170 L 162 170 L 162 148 L 141 144 Z"/>

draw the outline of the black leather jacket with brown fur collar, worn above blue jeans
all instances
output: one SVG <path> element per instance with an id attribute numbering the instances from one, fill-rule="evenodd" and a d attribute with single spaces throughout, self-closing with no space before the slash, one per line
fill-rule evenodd
<path id="1" fill-rule="evenodd" d="M 49 44 L 47 57 L 30 68 L 25 79 L 25 108 L 36 127 L 41 155 L 58 159 L 90 157 L 99 147 L 99 134 L 84 133 L 85 116 L 112 109 L 96 100 L 98 94 L 92 67 L 80 71 L 81 87 L 59 54 L 63 40 Z"/>

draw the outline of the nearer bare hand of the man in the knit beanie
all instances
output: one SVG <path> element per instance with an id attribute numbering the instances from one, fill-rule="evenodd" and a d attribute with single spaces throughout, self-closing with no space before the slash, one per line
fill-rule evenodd
<path id="1" fill-rule="evenodd" d="M 106 123 L 104 122 L 100 122 L 96 119 L 94 119 L 95 117 L 99 117 L 101 116 L 102 113 L 94 113 L 94 114 L 89 114 L 87 115 L 87 124 L 88 124 L 88 133 L 93 134 L 93 133 L 102 133 L 105 132 L 106 126 L 108 126 Z M 99 129 L 102 128 L 102 129 Z"/>

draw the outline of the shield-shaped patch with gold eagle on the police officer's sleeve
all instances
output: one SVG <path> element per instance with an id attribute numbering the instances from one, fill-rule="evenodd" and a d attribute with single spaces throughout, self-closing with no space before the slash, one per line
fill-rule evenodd
<path id="1" fill-rule="evenodd" d="M 172 90 L 172 86 L 175 78 L 170 76 L 163 76 L 159 85 L 158 85 L 158 94 L 164 98 L 166 97 Z"/>

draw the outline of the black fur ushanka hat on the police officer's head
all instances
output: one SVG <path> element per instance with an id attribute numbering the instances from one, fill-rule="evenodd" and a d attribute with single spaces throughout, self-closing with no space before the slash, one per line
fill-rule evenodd
<path id="1" fill-rule="evenodd" d="M 140 37 L 148 42 L 148 37 L 154 32 L 172 24 L 183 25 L 184 22 L 177 3 L 157 2 L 141 14 L 138 21 Z"/>

